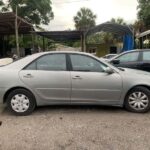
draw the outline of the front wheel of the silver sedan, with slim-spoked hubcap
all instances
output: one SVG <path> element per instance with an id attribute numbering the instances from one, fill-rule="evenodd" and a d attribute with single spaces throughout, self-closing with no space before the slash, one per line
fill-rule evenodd
<path id="1" fill-rule="evenodd" d="M 128 92 L 125 108 L 131 112 L 145 113 L 150 109 L 150 90 L 138 86 Z"/>

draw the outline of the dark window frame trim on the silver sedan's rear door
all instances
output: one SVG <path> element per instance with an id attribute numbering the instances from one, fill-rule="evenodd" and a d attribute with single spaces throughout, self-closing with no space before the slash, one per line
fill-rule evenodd
<path id="1" fill-rule="evenodd" d="M 65 55 L 65 60 L 66 60 L 66 70 L 40 70 L 40 71 L 69 71 L 69 66 L 68 66 L 68 60 L 67 60 L 67 54 L 66 53 L 49 53 L 49 54 L 44 54 L 44 55 L 41 55 L 39 57 L 37 57 L 36 59 L 34 59 L 33 61 L 31 61 L 29 64 L 27 64 L 22 70 L 26 70 L 26 68 L 28 66 L 30 66 L 32 63 L 35 62 L 36 64 L 36 67 L 35 67 L 35 70 L 37 70 L 37 60 L 40 59 L 41 57 L 43 56 L 47 56 L 47 55 L 57 55 L 57 54 L 64 54 Z"/>

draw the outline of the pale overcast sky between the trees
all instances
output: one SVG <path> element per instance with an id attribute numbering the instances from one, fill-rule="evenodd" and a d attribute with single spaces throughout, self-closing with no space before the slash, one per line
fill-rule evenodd
<path id="1" fill-rule="evenodd" d="M 137 18 L 137 0 L 52 0 L 54 20 L 47 30 L 74 29 L 73 16 L 81 7 L 90 8 L 97 15 L 96 24 L 121 17 L 126 22 L 134 22 Z"/>

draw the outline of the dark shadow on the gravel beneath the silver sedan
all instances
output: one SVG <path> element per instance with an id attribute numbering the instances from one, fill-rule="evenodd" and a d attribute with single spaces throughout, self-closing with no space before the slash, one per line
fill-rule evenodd
<path id="1" fill-rule="evenodd" d="M 44 114 L 44 113 L 123 113 L 127 112 L 124 108 L 113 107 L 113 106 L 95 106 L 95 105 L 53 105 L 53 106 L 42 106 L 35 108 L 32 115 Z M 11 116 L 13 115 L 5 106 L 1 111 L 1 115 Z"/>

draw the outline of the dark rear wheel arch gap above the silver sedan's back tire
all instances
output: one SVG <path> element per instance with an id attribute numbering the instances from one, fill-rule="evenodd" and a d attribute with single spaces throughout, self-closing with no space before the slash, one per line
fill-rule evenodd
<path id="1" fill-rule="evenodd" d="M 24 89 L 24 90 L 27 90 L 27 91 L 29 91 L 29 92 L 34 96 L 33 92 L 31 92 L 31 90 L 29 90 L 28 88 L 21 87 L 21 86 L 16 86 L 16 87 L 12 87 L 12 88 L 10 88 L 10 89 L 7 90 L 7 92 L 6 92 L 6 93 L 4 94 L 4 96 L 3 96 L 3 103 L 6 103 L 6 100 L 7 100 L 8 95 L 9 95 L 12 91 L 14 91 L 14 90 L 16 90 L 16 89 Z M 35 99 L 35 102 L 36 102 L 35 96 L 34 96 L 34 99 Z"/>

